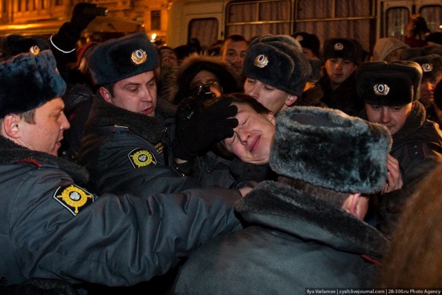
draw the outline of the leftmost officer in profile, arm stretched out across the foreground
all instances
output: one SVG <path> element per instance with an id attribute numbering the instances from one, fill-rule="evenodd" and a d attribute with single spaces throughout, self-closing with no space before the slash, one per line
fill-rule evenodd
<path id="1" fill-rule="evenodd" d="M 28 278 L 135 285 L 240 228 L 237 191 L 98 196 L 85 189 L 86 169 L 57 158 L 69 123 L 60 98 L 66 83 L 49 50 L 2 61 L 0 79 L 2 285 Z"/>

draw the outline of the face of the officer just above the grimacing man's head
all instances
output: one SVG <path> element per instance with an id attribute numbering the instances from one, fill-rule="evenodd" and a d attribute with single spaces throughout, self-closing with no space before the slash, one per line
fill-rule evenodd
<path id="1" fill-rule="evenodd" d="M 287 108 L 296 102 L 295 95 L 289 95 L 268 84 L 264 84 L 257 79 L 247 78 L 244 83 L 244 93 L 258 100 L 260 104 L 277 114 L 279 111 Z"/>

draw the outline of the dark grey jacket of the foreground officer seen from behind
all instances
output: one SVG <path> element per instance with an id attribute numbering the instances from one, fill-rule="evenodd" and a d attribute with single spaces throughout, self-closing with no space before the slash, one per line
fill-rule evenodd
<path id="1" fill-rule="evenodd" d="M 247 227 L 195 251 L 174 294 L 305 294 L 307 287 L 372 285 L 387 240 L 331 204 L 260 182 L 236 210 Z"/>

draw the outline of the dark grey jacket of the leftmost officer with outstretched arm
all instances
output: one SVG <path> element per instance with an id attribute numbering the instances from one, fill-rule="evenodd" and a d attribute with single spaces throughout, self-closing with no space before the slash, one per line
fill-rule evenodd
<path id="1" fill-rule="evenodd" d="M 104 193 L 83 167 L 0 137 L 0 280 L 61 278 L 134 285 L 164 274 L 202 242 L 240 228 L 240 193 L 193 189 Z"/>

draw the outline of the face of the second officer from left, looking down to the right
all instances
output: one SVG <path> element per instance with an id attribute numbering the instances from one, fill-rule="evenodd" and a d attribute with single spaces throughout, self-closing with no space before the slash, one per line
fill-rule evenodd
<path id="1" fill-rule="evenodd" d="M 103 87 L 100 93 L 106 102 L 127 111 L 153 117 L 157 104 L 157 84 L 153 70 L 115 83 L 113 96 Z"/>

